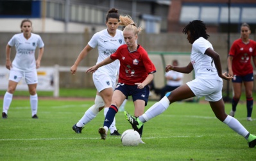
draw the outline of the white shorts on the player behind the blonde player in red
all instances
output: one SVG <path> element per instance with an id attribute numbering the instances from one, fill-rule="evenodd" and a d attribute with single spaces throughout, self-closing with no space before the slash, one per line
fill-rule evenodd
<path id="1" fill-rule="evenodd" d="M 98 92 L 101 90 L 112 88 L 115 89 L 116 76 L 109 76 L 105 73 L 94 72 L 92 74 L 92 80 Z"/>

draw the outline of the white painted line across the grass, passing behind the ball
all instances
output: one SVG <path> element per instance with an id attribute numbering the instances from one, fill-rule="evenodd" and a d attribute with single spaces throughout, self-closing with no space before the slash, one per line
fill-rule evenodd
<path id="1" fill-rule="evenodd" d="M 200 136 L 171 136 L 171 137 L 143 137 L 143 139 L 168 139 L 168 138 L 184 138 L 184 137 L 203 137 Z M 121 137 L 108 137 L 107 139 L 121 139 Z M 76 138 L 31 138 L 31 139 L 0 139 L 0 141 L 15 140 L 100 140 L 99 137 L 76 137 Z"/>

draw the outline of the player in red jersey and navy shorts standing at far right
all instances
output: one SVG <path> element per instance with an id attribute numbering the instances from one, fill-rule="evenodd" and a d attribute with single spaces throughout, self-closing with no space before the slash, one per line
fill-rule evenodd
<path id="1" fill-rule="evenodd" d="M 232 79 L 234 97 L 229 115 L 235 116 L 237 103 L 242 93 L 242 83 L 246 92 L 247 121 L 252 121 L 253 108 L 253 64 L 256 66 L 256 42 L 249 39 L 251 30 L 247 23 L 241 25 L 241 38 L 234 41 L 228 55 L 228 74 Z"/>

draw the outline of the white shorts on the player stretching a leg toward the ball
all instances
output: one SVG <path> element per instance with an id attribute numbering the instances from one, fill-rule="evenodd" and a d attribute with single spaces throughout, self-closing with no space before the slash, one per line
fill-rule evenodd
<path id="1" fill-rule="evenodd" d="M 222 81 L 195 79 L 187 82 L 187 85 L 196 97 L 205 96 L 205 100 L 212 102 L 222 99 Z"/>

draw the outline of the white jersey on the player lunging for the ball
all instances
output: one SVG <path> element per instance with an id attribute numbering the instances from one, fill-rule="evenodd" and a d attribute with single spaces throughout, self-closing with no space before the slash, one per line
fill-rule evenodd
<path id="1" fill-rule="evenodd" d="M 203 37 L 198 38 L 192 44 L 191 63 L 194 67 L 196 78 L 222 81 L 212 58 L 205 55 L 205 51 L 208 48 L 213 49 L 212 44 Z"/>

